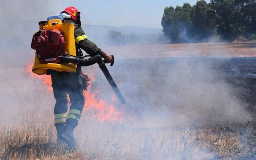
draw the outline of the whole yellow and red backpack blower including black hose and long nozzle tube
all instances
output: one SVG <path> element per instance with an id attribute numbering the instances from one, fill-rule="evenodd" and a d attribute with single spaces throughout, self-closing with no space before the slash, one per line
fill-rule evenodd
<path id="1" fill-rule="evenodd" d="M 63 20 L 64 23 L 59 19 L 39 22 L 40 30 L 33 35 L 31 43 L 31 48 L 36 50 L 35 65 L 32 71 L 39 75 L 47 73 L 48 69 L 60 72 L 75 72 L 76 65 L 89 66 L 98 63 L 117 98 L 122 104 L 125 104 L 123 95 L 106 68 L 106 60 L 103 60 L 98 54 L 88 59 L 83 58 L 89 56 L 76 57 L 74 24 L 70 18 L 64 18 Z M 110 66 L 114 64 L 113 55 L 112 58 L 113 62 Z"/>

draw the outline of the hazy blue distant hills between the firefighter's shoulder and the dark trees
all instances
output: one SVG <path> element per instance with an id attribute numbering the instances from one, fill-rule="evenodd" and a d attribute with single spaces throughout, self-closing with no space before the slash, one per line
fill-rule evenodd
<path id="1" fill-rule="evenodd" d="M 106 34 L 110 30 L 115 30 L 121 32 L 122 34 L 136 34 L 136 35 L 145 35 L 145 34 L 158 34 L 162 33 L 161 28 L 147 28 L 140 26 L 123 26 L 123 27 L 113 27 L 113 26 L 101 26 L 101 25 L 89 25 L 82 24 L 84 32 L 87 34 Z"/>

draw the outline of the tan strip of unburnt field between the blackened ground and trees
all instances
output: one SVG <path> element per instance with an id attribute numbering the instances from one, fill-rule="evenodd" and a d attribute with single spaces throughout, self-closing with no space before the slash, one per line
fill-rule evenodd
<path id="1" fill-rule="evenodd" d="M 131 45 L 103 48 L 117 58 L 180 57 L 180 56 L 235 56 L 252 57 L 256 43 L 184 43 Z"/>

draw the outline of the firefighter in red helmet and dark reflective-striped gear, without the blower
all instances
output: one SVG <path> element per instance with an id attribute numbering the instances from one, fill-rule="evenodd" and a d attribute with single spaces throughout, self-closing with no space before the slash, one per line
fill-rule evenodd
<path id="1" fill-rule="evenodd" d="M 76 55 L 80 55 L 80 48 L 91 56 L 101 55 L 107 62 L 112 62 L 112 57 L 98 48 L 95 43 L 89 41 L 81 28 L 80 12 L 75 7 L 65 8 L 60 14 L 67 14 L 74 19 Z M 76 73 L 57 72 L 49 70 L 52 78 L 52 88 L 56 103 L 54 106 L 54 125 L 57 130 L 57 142 L 64 141 L 70 147 L 76 147 L 73 130 L 78 125 L 84 108 L 83 89 L 86 89 L 86 78 L 82 75 L 81 66 L 77 66 Z M 85 77 L 85 78 L 84 78 Z M 68 111 L 68 99 L 70 98 L 70 110 Z M 86 99 L 86 98 L 85 98 Z"/>

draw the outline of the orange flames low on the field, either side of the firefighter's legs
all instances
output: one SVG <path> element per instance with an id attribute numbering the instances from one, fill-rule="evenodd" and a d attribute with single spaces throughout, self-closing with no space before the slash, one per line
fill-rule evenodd
<path id="1" fill-rule="evenodd" d="M 45 86 L 47 87 L 49 94 L 53 94 L 51 76 L 37 75 L 32 72 L 32 67 L 33 67 L 33 63 L 28 63 L 26 71 L 30 73 L 30 76 L 32 78 L 42 80 Z M 89 84 L 95 81 L 94 77 L 89 76 L 89 79 L 90 79 Z M 85 103 L 84 103 L 83 114 L 90 111 L 92 117 L 97 118 L 98 121 L 100 122 L 103 122 L 103 121 L 122 122 L 121 113 L 117 111 L 114 105 L 116 98 L 112 98 L 112 102 L 110 104 L 104 100 L 101 100 L 101 99 L 99 100 L 95 96 L 98 91 L 91 91 L 90 86 L 91 85 L 87 87 L 87 90 L 84 90 Z"/>

